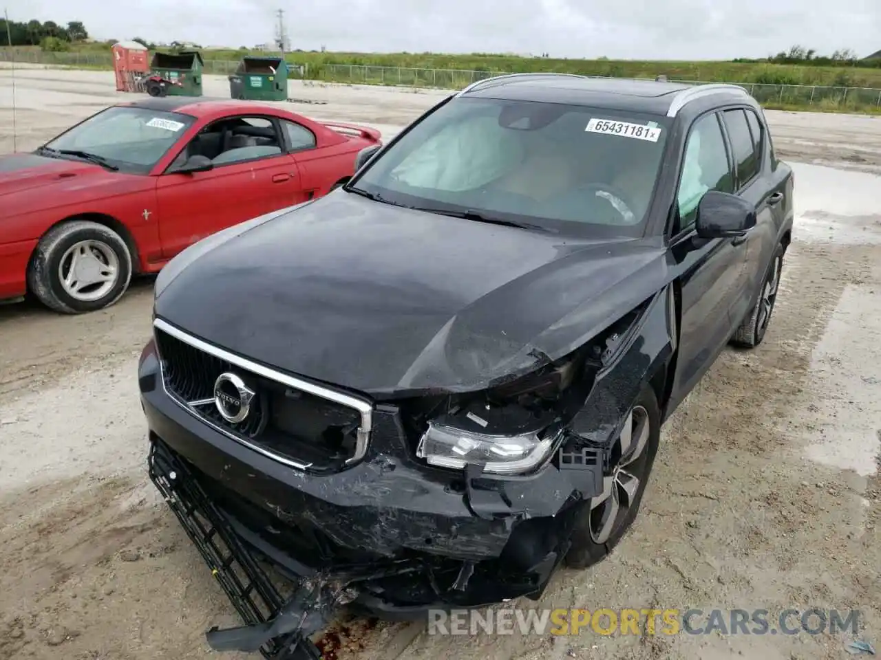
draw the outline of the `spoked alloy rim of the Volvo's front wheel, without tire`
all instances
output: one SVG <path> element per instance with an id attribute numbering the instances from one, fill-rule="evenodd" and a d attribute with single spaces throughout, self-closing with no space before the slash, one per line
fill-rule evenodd
<path id="1" fill-rule="evenodd" d="M 603 493 L 590 501 L 590 538 L 598 545 L 609 542 L 636 506 L 647 476 L 650 423 L 644 407 L 633 407 L 612 447 L 611 469 L 603 477 Z"/>

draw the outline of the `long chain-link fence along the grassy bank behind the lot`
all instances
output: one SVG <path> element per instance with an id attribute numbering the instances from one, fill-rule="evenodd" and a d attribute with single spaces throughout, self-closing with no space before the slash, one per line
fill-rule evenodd
<path id="1" fill-rule="evenodd" d="M 40 50 L 0 50 L 0 62 L 23 62 L 70 66 L 87 69 L 113 67 L 113 55 L 107 53 L 47 53 Z M 228 76 L 238 61 L 205 59 L 204 72 Z M 289 63 L 292 77 L 350 84 L 389 84 L 412 87 L 462 89 L 488 77 L 503 75 L 502 71 L 460 69 L 416 69 L 411 67 L 379 67 L 359 64 L 322 64 L 309 66 Z M 670 82 L 703 84 L 695 80 Z M 720 81 L 716 81 L 720 82 Z M 736 83 L 765 106 L 817 106 L 829 110 L 879 110 L 881 89 L 873 87 L 829 87 L 808 84 Z"/>

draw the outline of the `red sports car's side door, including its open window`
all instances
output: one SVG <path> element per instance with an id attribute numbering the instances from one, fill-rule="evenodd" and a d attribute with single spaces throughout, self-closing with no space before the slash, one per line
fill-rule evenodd
<path id="1" fill-rule="evenodd" d="M 283 145 L 278 121 L 270 117 L 236 115 L 200 130 L 159 176 L 163 257 L 233 224 L 305 201 L 300 173 Z M 203 157 L 202 164 L 210 161 L 211 169 L 177 172 L 195 156 Z"/>

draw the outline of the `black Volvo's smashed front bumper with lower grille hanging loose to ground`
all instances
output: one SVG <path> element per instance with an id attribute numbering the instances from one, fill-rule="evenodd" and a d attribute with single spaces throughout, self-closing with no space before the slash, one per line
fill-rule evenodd
<path id="1" fill-rule="evenodd" d="M 139 382 L 152 481 L 246 623 L 210 631 L 214 649 L 319 657 L 307 638 L 344 605 L 414 619 L 538 598 L 583 504 L 602 491 L 599 445 L 577 436 L 529 476 L 425 466 L 392 406 L 376 407 L 358 465 L 303 473 L 211 429 L 170 400 L 159 378 L 148 347 Z M 263 563 L 291 582 L 289 592 Z"/>

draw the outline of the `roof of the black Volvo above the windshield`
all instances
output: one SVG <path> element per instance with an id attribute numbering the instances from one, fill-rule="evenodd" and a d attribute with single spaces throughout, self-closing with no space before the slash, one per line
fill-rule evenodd
<path id="1" fill-rule="evenodd" d="M 685 99 L 714 93 L 743 95 L 737 85 L 695 85 L 655 80 L 577 76 L 564 73 L 512 74 L 487 78 L 466 87 L 460 95 L 566 103 L 633 110 L 648 114 L 676 114 Z"/>

